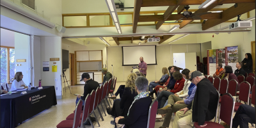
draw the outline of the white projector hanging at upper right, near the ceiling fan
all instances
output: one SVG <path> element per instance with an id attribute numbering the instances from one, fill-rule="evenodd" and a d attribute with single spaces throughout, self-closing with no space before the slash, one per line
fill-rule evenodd
<path id="1" fill-rule="evenodd" d="M 229 25 L 230 30 L 246 29 L 252 27 L 252 21 L 237 21 Z"/>

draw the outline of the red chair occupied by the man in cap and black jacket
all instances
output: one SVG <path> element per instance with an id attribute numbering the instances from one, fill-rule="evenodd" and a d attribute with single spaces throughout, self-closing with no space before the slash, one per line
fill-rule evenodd
<path id="1" fill-rule="evenodd" d="M 235 104 L 235 100 L 232 97 L 232 95 L 230 95 L 230 93 L 225 93 L 222 95 L 223 102 L 221 102 L 221 106 L 220 106 L 220 118 L 219 118 L 219 122 L 205 122 L 207 124 L 207 126 L 205 126 L 205 128 L 207 127 L 214 127 L 214 128 L 224 128 L 223 125 L 220 124 L 221 120 L 223 120 L 223 122 L 227 123 L 230 127 L 232 127 L 232 118 L 234 115 L 234 104 Z M 200 125 L 198 125 L 198 122 L 195 122 L 194 127 L 196 128 L 202 128 L 200 127 Z"/>

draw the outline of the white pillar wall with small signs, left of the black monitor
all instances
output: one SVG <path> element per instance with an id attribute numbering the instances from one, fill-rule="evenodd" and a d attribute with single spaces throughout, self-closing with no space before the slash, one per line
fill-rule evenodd
<path id="1" fill-rule="evenodd" d="M 60 58 L 60 61 L 50 61 L 50 58 Z M 50 61 L 50 70 L 49 72 L 43 72 L 41 65 L 42 86 L 55 86 L 56 97 L 61 99 L 61 37 L 41 37 L 41 63 L 43 61 Z M 52 72 L 53 62 L 57 63 L 57 72 Z M 54 81 L 54 79 L 57 79 L 57 81 Z"/>

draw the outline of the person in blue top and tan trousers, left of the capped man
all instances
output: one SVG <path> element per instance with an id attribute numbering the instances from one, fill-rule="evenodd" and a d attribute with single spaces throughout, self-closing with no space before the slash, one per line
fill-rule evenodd
<path id="1" fill-rule="evenodd" d="M 195 92 L 196 92 L 196 85 L 191 84 L 189 86 L 188 97 L 186 97 L 186 99 L 183 100 L 182 98 L 180 98 L 177 95 L 169 96 L 167 106 L 157 110 L 157 113 L 159 113 L 159 114 L 162 114 L 162 115 L 166 114 L 161 128 L 169 127 L 169 124 L 172 119 L 172 113 L 175 113 L 176 111 L 179 111 L 182 108 L 186 108 L 188 106 L 188 104 L 190 104 L 192 102 L 192 100 L 194 99 Z"/>

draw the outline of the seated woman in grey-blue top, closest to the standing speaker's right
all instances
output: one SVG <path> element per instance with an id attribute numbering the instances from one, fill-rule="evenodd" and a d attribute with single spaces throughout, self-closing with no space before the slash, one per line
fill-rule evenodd
<path id="1" fill-rule="evenodd" d="M 153 92 L 153 88 L 155 88 L 157 85 L 161 84 L 161 83 L 165 83 L 169 77 L 168 74 L 168 70 L 166 67 L 162 68 L 162 74 L 163 76 L 161 77 L 161 79 L 159 81 L 154 81 L 154 82 L 150 82 L 149 83 L 149 91 Z"/>

